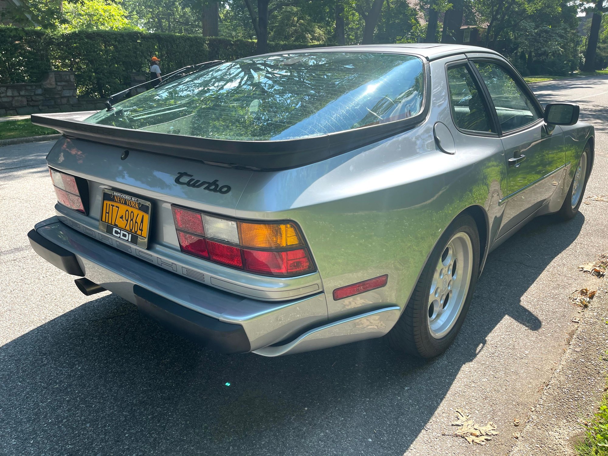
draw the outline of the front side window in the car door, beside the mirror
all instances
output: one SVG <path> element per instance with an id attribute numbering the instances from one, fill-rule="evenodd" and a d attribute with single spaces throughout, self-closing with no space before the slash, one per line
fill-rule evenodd
<path id="1" fill-rule="evenodd" d="M 541 119 L 536 104 L 502 66 L 486 62 L 475 62 L 475 66 L 488 87 L 503 132 Z"/>

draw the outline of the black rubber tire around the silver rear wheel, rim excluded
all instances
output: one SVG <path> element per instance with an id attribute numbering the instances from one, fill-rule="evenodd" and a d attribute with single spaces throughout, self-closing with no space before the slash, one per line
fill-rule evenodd
<path id="1" fill-rule="evenodd" d="M 435 268 L 437 268 L 437 263 L 446 249 L 447 243 L 459 232 L 466 233 L 472 244 L 471 282 L 469 283 L 468 293 L 463 302 L 460 315 L 454 326 L 441 339 L 436 339 L 431 335 L 428 323 L 430 287 L 433 282 Z M 387 334 L 389 345 L 399 353 L 406 353 L 420 358 L 433 358 L 446 351 L 447 347 L 454 341 L 458 331 L 460 331 L 460 326 L 465 321 L 469 305 L 471 304 L 471 297 L 477 284 L 479 263 L 480 246 L 477 224 L 475 224 L 475 220 L 471 216 L 460 215 L 447 227 L 446 231 L 441 235 L 437 246 L 435 246 L 435 249 L 430 254 L 406 309 L 389 334 Z"/>

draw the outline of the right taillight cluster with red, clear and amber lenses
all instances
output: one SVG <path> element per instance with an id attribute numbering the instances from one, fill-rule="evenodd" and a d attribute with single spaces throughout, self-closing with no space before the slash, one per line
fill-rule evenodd
<path id="1" fill-rule="evenodd" d="M 250 223 L 171 206 L 182 252 L 230 268 L 263 275 L 314 271 L 300 230 L 293 223 Z"/>

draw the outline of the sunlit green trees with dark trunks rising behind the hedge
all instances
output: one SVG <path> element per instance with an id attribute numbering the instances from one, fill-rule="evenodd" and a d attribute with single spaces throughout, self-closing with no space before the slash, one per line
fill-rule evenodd
<path id="1" fill-rule="evenodd" d="M 603 0 L 66 0 L 63 11 L 61 0 L 20 1 L 15 21 L 40 29 L 216 35 L 253 40 L 258 53 L 273 43 L 451 43 L 466 23 L 481 37 L 472 44 L 498 50 L 523 74 L 567 74 L 608 61 Z M 581 35 L 578 14 L 586 9 L 595 19 Z"/>

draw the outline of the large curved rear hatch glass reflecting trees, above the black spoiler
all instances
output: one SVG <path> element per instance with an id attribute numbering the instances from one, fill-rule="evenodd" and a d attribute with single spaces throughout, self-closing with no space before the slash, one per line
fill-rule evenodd
<path id="1" fill-rule="evenodd" d="M 85 120 L 212 139 L 321 136 L 415 116 L 420 58 L 364 52 L 250 57 L 196 72 Z"/>

